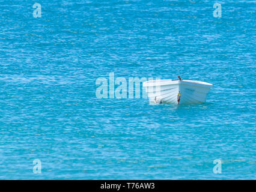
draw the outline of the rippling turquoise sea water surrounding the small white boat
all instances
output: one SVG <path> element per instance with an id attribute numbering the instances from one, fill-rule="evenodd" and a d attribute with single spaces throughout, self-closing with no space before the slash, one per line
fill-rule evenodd
<path id="1" fill-rule="evenodd" d="M 256 1 L 221 18 L 218 1 L 37 2 L 34 18 L 0 1 L 0 179 L 256 179 Z M 112 72 L 213 88 L 190 106 L 97 98 Z"/>

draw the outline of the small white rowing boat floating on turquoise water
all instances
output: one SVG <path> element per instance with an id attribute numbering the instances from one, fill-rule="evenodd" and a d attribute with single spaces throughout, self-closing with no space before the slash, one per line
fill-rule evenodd
<path id="1" fill-rule="evenodd" d="M 199 104 L 206 102 L 213 85 L 197 80 L 158 79 L 148 80 L 143 86 L 150 103 Z"/>

